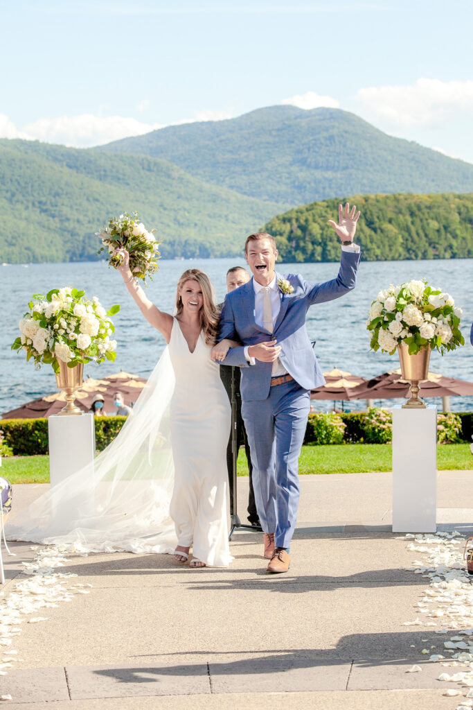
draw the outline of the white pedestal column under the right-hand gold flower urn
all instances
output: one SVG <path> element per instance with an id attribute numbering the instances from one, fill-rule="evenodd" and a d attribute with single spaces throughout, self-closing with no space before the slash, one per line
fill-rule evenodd
<path id="1" fill-rule="evenodd" d="M 437 408 L 393 408 L 393 532 L 436 532 Z"/>

